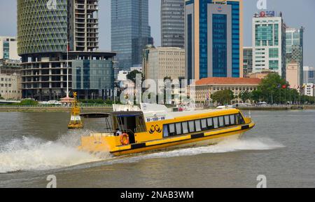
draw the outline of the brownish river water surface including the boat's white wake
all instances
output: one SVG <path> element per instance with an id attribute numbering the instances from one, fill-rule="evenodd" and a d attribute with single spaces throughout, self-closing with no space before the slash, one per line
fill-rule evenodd
<path id="1" fill-rule="evenodd" d="M 247 114 L 248 112 L 245 112 Z M 102 120 L 68 131 L 67 113 L 0 113 L 0 187 L 315 187 L 315 110 L 254 111 L 241 140 L 209 147 L 113 158 L 78 152 L 80 136 Z"/>

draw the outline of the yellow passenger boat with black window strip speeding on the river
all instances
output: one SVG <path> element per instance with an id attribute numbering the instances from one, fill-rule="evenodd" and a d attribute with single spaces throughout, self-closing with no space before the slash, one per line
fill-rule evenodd
<path id="1" fill-rule="evenodd" d="M 118 109 L 120 108 L 120 109 Z M 169 112 L 164 105 L 114 106 L 114 112 L 82 114 L 105 119 L 105 131 L 81 137 L 80 150 L 114 156 L 216 144 L 255 126 L 238 109 Z"/>

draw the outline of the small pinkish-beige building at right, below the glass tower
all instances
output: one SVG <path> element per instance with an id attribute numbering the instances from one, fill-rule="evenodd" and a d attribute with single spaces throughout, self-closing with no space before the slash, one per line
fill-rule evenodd
<path id="1" fill-rule="evenodd" d="M 297 62 L 290 62 L 286 65 L 286 81 L 290 84 L 290 88 L 297 89 L 298 86 L 302 86 L 300 85 L 300 67 Z"/>

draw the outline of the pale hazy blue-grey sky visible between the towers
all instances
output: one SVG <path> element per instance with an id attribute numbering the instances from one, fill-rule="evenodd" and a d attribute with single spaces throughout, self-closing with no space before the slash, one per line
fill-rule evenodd
<path id="1" fill-rule="evenodd" d="M 149 22 L 155 46 L 160 46 L 160 0 L 149 1 Z M 251 18 L 258 12 L 258 0 L 244 0 L 244 46 L 251 46 Z M 111 0 L 99 3 L 99 41 L 111 50 Z M 288 27 L 305 27 L 304 66 L 315 66 L 315 1 L 267 0 L 267 9 L 283 13 Z M 0 36 L 16 36 L 16 1 L 0 0 Z"/>

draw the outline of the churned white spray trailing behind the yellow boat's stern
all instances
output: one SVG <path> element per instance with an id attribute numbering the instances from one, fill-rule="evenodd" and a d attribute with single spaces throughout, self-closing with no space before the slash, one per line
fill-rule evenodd
<path id="1" fill-rule="evenodd" d="M 100 161 L 101 159 L 97 156 L 76 149 L 74 144 L 79 138 L 78 134 L 68 134 L 56 142 L 47 142 L 32 137 L 13 140 L 0 149 L 0 173 L 20 170 L 50 170 Z"/>

